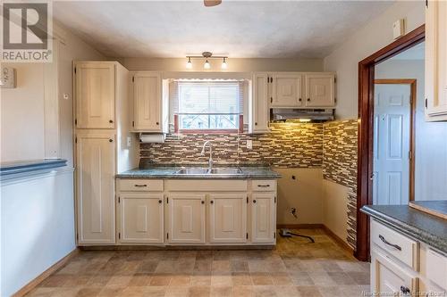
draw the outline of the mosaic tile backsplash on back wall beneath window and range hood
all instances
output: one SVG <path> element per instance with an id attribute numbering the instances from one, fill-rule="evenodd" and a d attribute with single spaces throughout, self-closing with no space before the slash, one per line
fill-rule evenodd
<path id="1" fill-rule="evenodd" d="M 263 135 L 184 134 L 168 135 L 164 144 L 140 144 L 140 158 L 156 164 L 207 164 L 201 156 L 203 144 L 213 142 L 216 165 L 263 163 L 286 168 L 321 168 L 323 164 L 323 124 L 272 123 Z M 253 148 L 247 149 L 247 140 Z"/>

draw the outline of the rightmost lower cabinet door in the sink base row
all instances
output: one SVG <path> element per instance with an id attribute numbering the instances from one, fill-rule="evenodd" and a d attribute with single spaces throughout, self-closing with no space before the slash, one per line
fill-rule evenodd
<path id="1" fill-rule="evenodd" d="M 251 195 L 251 242 L 274 243 L 276 232 L 276 207 L 274 193 Z"/>

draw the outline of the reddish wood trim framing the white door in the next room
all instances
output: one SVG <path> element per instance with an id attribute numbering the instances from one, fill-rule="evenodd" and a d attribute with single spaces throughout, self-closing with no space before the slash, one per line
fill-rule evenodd
<path id="1" fill-rule="evenodd" d="M 416 79 L 375 79 L 375 85 L 409 85 L 409 201 L 415 200 L 415 151 L 416 151 L 416 108 L 417 108 L 417 80 Z"/>

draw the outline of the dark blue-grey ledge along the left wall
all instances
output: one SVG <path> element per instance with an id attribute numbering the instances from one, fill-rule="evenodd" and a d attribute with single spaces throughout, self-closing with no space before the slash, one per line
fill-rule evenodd
<path id="1" fill-rule="evenodd" d="M 0 163 L 0 177 L 41 169 L 54 169 L 67 164 L 65 159 L 38 159 Z"/>

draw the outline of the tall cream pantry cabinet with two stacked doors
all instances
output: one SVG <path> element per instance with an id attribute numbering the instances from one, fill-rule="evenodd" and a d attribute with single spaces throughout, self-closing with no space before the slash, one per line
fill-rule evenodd
<path id="1" fill-rule="evenodd" d="M 119 62 L 74 62 L 77 241 L 115 243 L 116 173 L 137 165 L 129 71 Z"/>

